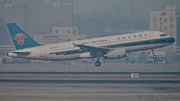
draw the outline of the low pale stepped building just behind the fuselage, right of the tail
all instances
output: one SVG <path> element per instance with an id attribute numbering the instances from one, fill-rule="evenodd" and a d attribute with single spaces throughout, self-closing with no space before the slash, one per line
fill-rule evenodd
<path id="1" fill-rule="evenodd" d="M 86 39 L 86 35 L 78 34 L 72 27 L 53 27 L 51 34 L 36 34 L 33 38 L 40 44 L 60 43 Z"/>

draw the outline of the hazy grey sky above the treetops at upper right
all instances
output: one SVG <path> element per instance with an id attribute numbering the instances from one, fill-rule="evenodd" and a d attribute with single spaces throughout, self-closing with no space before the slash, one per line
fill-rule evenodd
<path id="1" fill-rule="evenodd" d="M 172 0 L 173 4 L 180 7 L 180 0 Z M 103 11 L 121 7 L 130 9 L 131 0 L 73 0 L 74 13 L 87 14 L 91 10 Z M 171 4 L 171 0 L 133 0 L 134 8 L 140 13 L 148 13 L 152 10 L 165 10 L 165 5 Z"/>

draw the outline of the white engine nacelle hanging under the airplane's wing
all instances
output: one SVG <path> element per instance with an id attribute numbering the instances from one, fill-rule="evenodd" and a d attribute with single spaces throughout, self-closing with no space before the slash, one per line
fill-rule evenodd
<path id="1" fill-rule="evenodd" d="M 112 51 L 109 51 L 104 55 L 104 59 L 119 59 L 126 57 L 126 50 L 122 48 L 118 48 Z"/>

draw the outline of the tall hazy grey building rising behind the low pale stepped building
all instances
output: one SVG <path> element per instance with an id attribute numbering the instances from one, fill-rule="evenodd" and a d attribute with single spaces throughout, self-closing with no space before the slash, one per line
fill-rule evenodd
<path id="1" fill-rule="evenodd" d="M 73 27 L 72 0 L 25 0 L 25 29 L 32 34 L 48 34 L 54 26 Z"/>

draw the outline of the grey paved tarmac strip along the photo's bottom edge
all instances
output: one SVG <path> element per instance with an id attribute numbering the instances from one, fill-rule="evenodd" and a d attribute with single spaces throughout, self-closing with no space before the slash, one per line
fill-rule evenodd
<path id="1" fill-rule="evenodd" d="M 0 101 L 180 101 L 180 85 L 0 83 Z"/>

